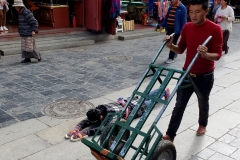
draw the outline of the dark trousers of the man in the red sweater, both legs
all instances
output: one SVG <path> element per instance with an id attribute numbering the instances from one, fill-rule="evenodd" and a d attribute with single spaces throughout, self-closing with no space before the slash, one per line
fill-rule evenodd
<path id="1" fill-rule="evenodd" d="M 195 85 L 197 86 L 202 98 L 198 97 L 199 119 L 198 123 L 206 127 L 209 115 L 209 95 L 213 87 L 214 76 L 213 73 L 204 76 L 192 77 Z M 186 84 L 186 83 L 185 83 Z M 184 83 L 182 83 L 184 85 Z M 177 101 L 172 112 L 172 117 L 168 126 L 167 135 L 173 140 L 176 136 L 177 130 L 182 121 L 183 113 L 186 109 L 187 103 L 193 94 L 193 87 L 179 89 L 177 91 Z"/>

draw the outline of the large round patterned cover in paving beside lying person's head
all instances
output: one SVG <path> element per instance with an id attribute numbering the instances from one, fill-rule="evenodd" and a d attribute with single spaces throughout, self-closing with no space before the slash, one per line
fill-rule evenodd
<path id="1" fill-rule="evenodd" d="M 87 101 L 58 101 L 43 107 L 42 112 L 53 118 L 69 119 L 86 116 L 87 111 L 92 108 L 95 106 Z"/>

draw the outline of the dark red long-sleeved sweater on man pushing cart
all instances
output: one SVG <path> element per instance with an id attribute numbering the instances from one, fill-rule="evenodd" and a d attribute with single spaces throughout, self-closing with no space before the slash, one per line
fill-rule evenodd
<path id="1" fill-rule="evenodd" d="M 222 55 L 223 45 L 222 30 L 219 25 L 206 20 L 204 24 L 199 26 L 189 22 L 183 27 L 178 46 L 181 48 L 181 53 L 187 49 L 186 60 L 183 67 L 184 69 L 187 69 L 196 55 L 198 46 L 202 45 L 209 36 L 212 36 L 212 39 L 206 45 L 206 47 L 208 47 L 208 52 L 217 53 L 219 59 Z M 203 74 L 213 71 L 214 68 L 214 61 L 210 61 L 199 56 L 190 72 Z"/>

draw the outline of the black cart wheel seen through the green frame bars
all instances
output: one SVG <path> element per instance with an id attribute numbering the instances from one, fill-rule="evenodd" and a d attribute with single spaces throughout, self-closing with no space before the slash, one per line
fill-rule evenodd
<path id="1" fill-rule="evenodd" d="M 114 122 L 111 122 L 106 129 L 103 131 L 101 139 L 100 139 L 100 144 L 103 144 L 103 141 L 106 139 L 107 134 L 109 133 L 110 129 L 113 127 Z M 118 135 L 119 131 L 121 130 L 120 126 L 116 126 L 114 131 L 112 132 L 111 137 L 108 139 L 108 142 L 106 144 L 106 146 L 104 147 L 105 149 L 110 149 L 113 141 L 115 140 L 116 136 Z M 122 140 L 126 141 L 128 139 L 128 137 L 130 136 L 130 131 L 126 130 L 125 133 L 123 134 Z M 125 143 L 120 142 L 118 144 L 118 146 L 116 147 L 116 150 L 114 151 L 115 154 L 119 154 L 120 151 L 122 150 L 123 146 Z"/>

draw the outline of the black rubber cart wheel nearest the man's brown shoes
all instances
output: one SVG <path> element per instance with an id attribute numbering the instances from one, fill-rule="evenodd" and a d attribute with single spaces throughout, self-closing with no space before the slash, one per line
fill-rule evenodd
<path id="1" fill-rule="evenodd" d="M 168 140 L 161 140 L 150 160 L 176 160 L 175 146 Z"/>

